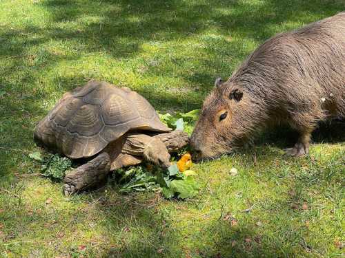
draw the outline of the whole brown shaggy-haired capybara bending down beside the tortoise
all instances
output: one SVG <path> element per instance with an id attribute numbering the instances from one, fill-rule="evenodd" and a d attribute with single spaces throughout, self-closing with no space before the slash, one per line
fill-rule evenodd
<path id="1" fill-rule="evenodd" d="M 200 158 L 284 123 L 299 133 L 288 153 L 307 154 L 317 122 L 345 117 L 345 12 L 277 34 L 215 84 L 190 141 Z"/>

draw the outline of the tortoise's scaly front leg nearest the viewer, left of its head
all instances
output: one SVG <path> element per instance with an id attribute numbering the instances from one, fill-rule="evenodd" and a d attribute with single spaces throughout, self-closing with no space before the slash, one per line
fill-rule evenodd
<path id="1" fill-rule="evenodd" d="M 110 171 L 109 154 L 103 152 L 88 163 L 78 166 L 64 178 L 63 193 L 68 196 L 95 186 L 98 182 L 106 178 Z"/>

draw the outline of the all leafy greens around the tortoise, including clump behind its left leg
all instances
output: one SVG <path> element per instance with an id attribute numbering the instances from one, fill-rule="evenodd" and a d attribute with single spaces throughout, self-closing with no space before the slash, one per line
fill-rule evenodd
<path id="1" fill-rule="evenodd" d="M 199 110 L 177 113 L 174 116 L 169 113 L 159 114 L 161 121 L 168 127 L 184 130 L 189 134 L 193 131 L 198 116 Z M 41 175 L 54 180 L 62 180 L 67 171 L 77 166 L 73 166 L 68 158 L 57 154 L 46 154 L 42 157 L 41 153 L 34 152 L 30 153 L 29 157 L 41 163 Z M 199 190 L 195 180 L 197 173 L 190 169 L 192 165 L 192 156 L 185 148 L 172 157 L 167 170 L 151 164 L 141 164 L 118 169 L 112 174 L 112 180 L 115 180 L 121 193 L 159 191 L 166 199 L 186 199 L 197 195 Z"/>

